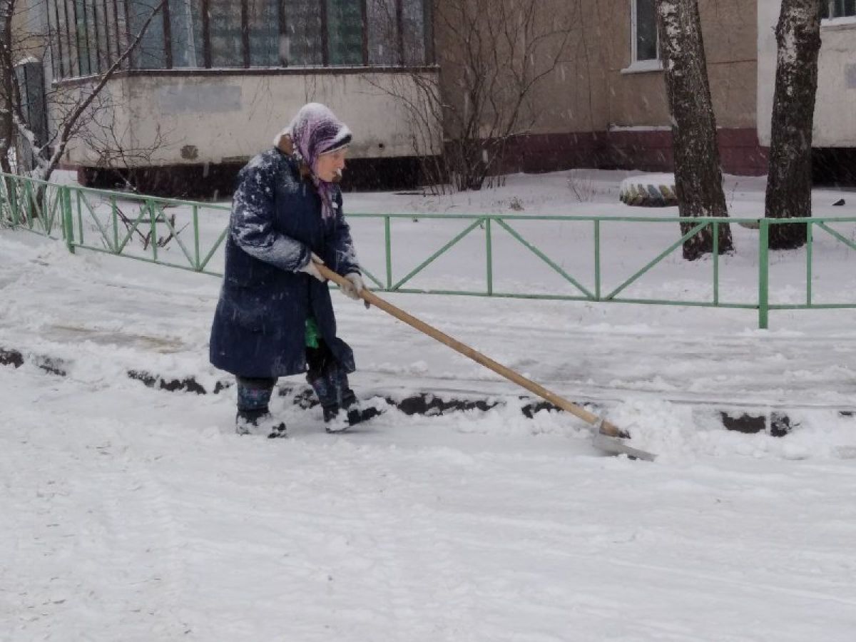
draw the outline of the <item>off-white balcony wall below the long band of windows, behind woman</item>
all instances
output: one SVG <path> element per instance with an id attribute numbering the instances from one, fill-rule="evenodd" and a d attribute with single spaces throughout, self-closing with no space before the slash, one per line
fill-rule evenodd
<path id="1" fill-rule="evenodd" d="M 426 71 L 425 74 L 435 72 Z M 354 130 L 352 158 L 413 156 L 413 124 L 389 92 L 413 92 L 408 74 L 248 74 L 194 71 L 188 74 L 123 74 L 110 80 L 114 130 L 127 149 L 163 145 L 149 158 L 122 164 L 175 165 L 242 163 L 271 145 L 306 102 L 330 106 Z M 82 141 L 70 147 L 67 162 L 94 166 L 102 159 Z M 439 132 L 420 141 L 419 152 L 437 152 Z"/>

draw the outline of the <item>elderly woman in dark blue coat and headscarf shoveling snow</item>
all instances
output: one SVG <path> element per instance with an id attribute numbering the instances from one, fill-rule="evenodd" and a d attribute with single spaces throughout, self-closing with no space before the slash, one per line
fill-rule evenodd
<path id="1" fill-rule="evenodd" d="M 268 403 L 277 377 L 306 372 L 327 431 L 361 419 L 348 373 L 354 353 L 336 336 L 327 280 L 344 294 L 363 288 L 337 183 L 351 132 L 322 104 L 304 105 L 274 148 L 241 169 L 232 201 L 226 268 L 211 326 L 211 363 L 235 375 L 239 434 L 285 435 Z"/>

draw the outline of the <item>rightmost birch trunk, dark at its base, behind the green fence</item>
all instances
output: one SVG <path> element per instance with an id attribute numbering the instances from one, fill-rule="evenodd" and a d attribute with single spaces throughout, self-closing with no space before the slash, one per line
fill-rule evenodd
<path id="1" fill-rule="evenodd" d="M 817 94 L 820 0 L 782 0 L 764 217 L 811 216 L 811 128 Z M 770 247 L 805 245 L 806 226 L 770 225 Z"/>

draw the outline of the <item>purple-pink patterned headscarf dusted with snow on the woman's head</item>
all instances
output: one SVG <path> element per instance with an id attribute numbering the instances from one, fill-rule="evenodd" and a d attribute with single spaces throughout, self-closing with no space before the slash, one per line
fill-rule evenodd
<path id="1" fill-rule="evenodd" d="M 351 142 L 351 130 L 340 121 L 328 107 L 320 103 L 308 103 L 282 134 L 288 134 L 294 143 L 294 155 L 309 167 L 312 182 L 321 197 L 321 216 L 333 216 L 333 184 L 322 181 L 315 174 L 315 163 L 321 154 L 335 152 Z"/>

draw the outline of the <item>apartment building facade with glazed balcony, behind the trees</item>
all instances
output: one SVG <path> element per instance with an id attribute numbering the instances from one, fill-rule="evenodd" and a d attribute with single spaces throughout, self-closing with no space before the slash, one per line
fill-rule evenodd
<path id="1" fill-rule="evenodd" d="M 300 104 L 317 100 L 354 128 L 351 165 L 363 185 L 412 184 L 416 157 L 439 153 L 451 133 L 449 123 L 437 122 L 430 136 L 416 135 L 401 95 L 419 99 L 424 78 L 440 83 L 444 100 L 466 101 L 455 26 L 439 18 L 443 3 L 461 1 L 470 0 L 169 0 L 104 92 L 117 146 L 158 145 L 107 158 L 87 144 L 94 134 L 84 132 L 65 163 L 92 181 L 106 164 L 118 165 L 165 193 L 179 183 L 228 185 Z M 91 86 L 157 2 L 39 4 L 49 33 L 50 87 Z M 570 27 L 567 39 L 554 39 L 564 44 L 561 63 L 534 87 L 525 107 L 534 124 L 515 135 L 505 169 L 672 167 L 655 5 L 538 0 L 542 28 L 551 21 Z M 854 5 L 824 0 L 819 147 L 856 148 Z M 699 8 L 723 169 L 762 175 L 780 3 L 699 0 Z"/>

